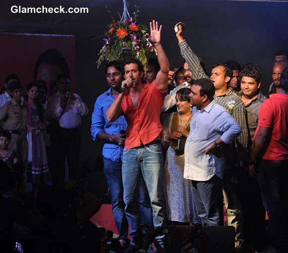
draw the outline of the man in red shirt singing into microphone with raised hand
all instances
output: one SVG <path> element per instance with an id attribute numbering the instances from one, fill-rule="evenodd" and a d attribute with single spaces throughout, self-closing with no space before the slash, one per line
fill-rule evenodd
<path id="1" fill-rule="evenodd" d="M 123 151 L 122 179 L 124 188 L 125 213 L 131 226 L 134 243 L 129 252 L 137 251 L 139 229 L 139 181 L 143 174 L 153 212 L 153 225 L 159 229 L 156 237 L 164 248 L 165 205 L 163 196 L 163 155 L 160 145 L 162 125 L 161 106 L 168 86 L 169 62 L 161 45 L 161 28 L 158 22 L 150 22 L 149 40 L 157 50 L 160 70 L 151 83 L 143 83 L 144 68 L 137 59 L 124 62 L 122 93 L 118 95 L 106 112 L 108 121 L 115 121 L 124 115 L 128 127 Z M 127 251 L 128 252 L 128 251 Z"/>

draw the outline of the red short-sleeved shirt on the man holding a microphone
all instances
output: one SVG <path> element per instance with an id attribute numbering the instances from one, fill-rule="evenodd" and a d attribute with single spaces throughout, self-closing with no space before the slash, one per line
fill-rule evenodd
<path id="1" fill-rule="evenodd" d="M 124 96 L 121 106 L 128 123 L 125 148 L 134 148 L 154 140 L 163 130 L 160 113 L 166 91 L 156 88 L 156 80 L 145 83 L 139 96 L 139 102 L 134 108 L 130 94 Z"/>

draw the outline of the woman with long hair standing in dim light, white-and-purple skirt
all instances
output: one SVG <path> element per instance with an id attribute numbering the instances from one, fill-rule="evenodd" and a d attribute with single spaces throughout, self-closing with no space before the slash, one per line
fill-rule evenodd
<path id="1" fill-rule="evenodd" d="M 34 83 L 29 84 L 25 97 L 28 112 L 28 161 L 31 163 L 32 191 L 35 197 L 41 186 L 51 184 L 51 176 L 42 133 L 47 126 L 47 122 L 45 120 L 44 108 L 39 101 L 38 95 L 38 85 Z"/>

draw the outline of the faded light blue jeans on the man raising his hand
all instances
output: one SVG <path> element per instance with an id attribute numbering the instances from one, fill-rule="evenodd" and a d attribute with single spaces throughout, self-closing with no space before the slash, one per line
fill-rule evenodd
<path id="1" fill-rule="evenodd" d="M 125 213 L 130 223 L 133 237 L 140 225 L 139 187 L 141 174 L 148 189 L 155 229 L 162 229 L 165 223 L 165 204 L 163 193 L 163 154 L 160 144 L 139 148 L 124 148 L 122 179 L 124 187 Z M 156 237 L 162 242 L 164 235 Z"/>

